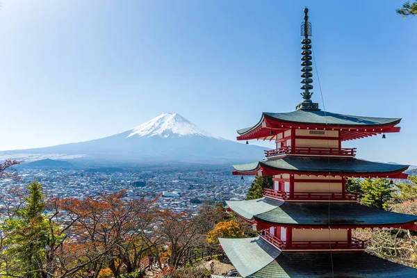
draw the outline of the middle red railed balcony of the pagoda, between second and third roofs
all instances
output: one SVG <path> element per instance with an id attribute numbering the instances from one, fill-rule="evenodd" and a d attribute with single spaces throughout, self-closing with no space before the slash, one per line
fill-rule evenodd
<path id="1" fill-rule="evenodd" d="M 293 192 L 288 193 L 270 188 L 263 188 L 263 196 L 268 199 L 279 199 L 283 201 L 350 201 L 357 202 L 361 193 L 357 192 Z"/>

